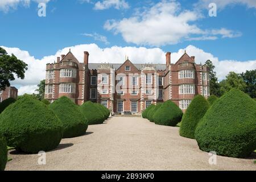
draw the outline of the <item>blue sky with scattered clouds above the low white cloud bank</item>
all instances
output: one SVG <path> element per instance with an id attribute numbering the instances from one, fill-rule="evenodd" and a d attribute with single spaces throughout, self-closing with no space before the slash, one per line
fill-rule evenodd
<path id="1" fill-rule="evenodd" d="M 46 2 L 45 17 L 38 16 L 39 2 Z M 216 17 L 208 15 L 210 2 L 217 5 Z M 44 60 L 77 45 L 96 44 L 105 53 L 114 46 L 159 48 L 177 55 L 191 46 L 191 53 L 200 57 L 200 49 L 205 55 L 200 58 L 216 59 L 216 65 L 235 61 L 234 71 L 240 71 L 241 63 L 243 69 L 256 67 L 247 64 L 256 60 L 256 2 L 251 0 L 1 0 L 0 22 L 0 46 L 23 59 L 27 51 L 28 60 Z M 113 62 L 112 57 L 107 61 Z M 217 73 L 223 77 L 227 71 L 233 70 Z"/>

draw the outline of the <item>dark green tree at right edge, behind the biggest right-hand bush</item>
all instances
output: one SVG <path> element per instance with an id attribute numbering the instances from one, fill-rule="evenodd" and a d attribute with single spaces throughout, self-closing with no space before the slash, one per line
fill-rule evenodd
<path id="1" fill-rule="evenodd" d="M 256 69 L 241 74 L 243 81 L 246 83 L 245 93 L 251 98 L 256 98 Z"/>

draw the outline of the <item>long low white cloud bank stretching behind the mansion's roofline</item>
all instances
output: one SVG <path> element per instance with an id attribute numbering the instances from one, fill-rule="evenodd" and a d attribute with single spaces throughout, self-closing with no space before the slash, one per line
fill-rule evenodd
<path id="1" fill-rule="evenodd" d="M 3 46 L 1 46 L 3 47 Z M 72 47 L 67 47 L 56 52 L 55 55 L 45 56 L 43 59 L 35 59 L 27 51 L 22 51 L 19 48 L 8 48 L 8 53 L 14 53 L 18 59 L 24 60 L 28 64 L 28 70 L 25 73 L 25 79 L 20 80 L 16 78 L 11 82 L 11 85 L 20 86 L 19 94 L 33 93 L 36 89 L 36 85 L 40 80 L 46 77 L 46 64 L 53 63 L 57 56 L 66 54 L 71 48 L 72 53 L 77 59 L 82 62 L 84 51 L 90 53 L 89 63 L 123 63 L 125 61 L 125 55 L 129 56 L 129 59 L 133 63 L 166 63 L 165 52 L 160 48 L 145 48 L 145 47 L 118 47 L 113 46 L 109 48 L 100 48 L 96 44 L 82 44 Z M 251 61 L 237 61 L 237 60 L 218 60 L 218 57 L 211 53 L 205 52 L 203 49 L 195 46 L 188 46 L 184 49 L 172 53 L 171 62 L 175 63 L 184 51 L 187 51 L 189 56 L 196 56 L 197 64 L 204 64 L 206 60 L 212 60 L 216 66 L 217 76 L 220 80 L 230 72 L 237 73 L 245 72 L 246 70 L 256 69 L 256 60 Z"/>

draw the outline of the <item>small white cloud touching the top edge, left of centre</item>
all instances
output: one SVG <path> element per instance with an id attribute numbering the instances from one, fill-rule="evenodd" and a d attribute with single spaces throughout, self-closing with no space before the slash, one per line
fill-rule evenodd
<path id="1" fill-rule="evenodd" d="M 106 10 L 114 7 L 115 9 L 129 9 L 129 3 L 125 0 L 104 0 L 98 1 L 94 5 L 95 10 Z"/>

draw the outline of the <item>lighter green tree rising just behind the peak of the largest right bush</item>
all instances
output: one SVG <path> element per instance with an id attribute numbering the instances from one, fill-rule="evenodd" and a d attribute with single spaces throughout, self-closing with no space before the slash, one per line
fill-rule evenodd
<path id="1" fill-rule="evenodd" d="M 220 86 L 221 95 L 229 92 L 229 90 L 231 90 L 232 88 L 236 88 L 243 92 L 246 89 L 246 83 L 243 81 L 242 76 L 235 72 L 229 72 L 229 74 L 226 76 L 226 79 L 220 82 Z"/>

